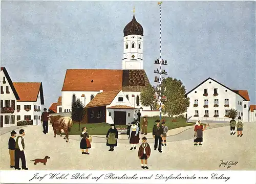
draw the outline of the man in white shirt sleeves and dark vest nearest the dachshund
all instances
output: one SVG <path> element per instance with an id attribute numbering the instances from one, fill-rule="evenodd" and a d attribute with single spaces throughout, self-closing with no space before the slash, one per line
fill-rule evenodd
<path id="1" fill-rule="evenodd" d="M 19 130 L 19 136 L 16 139 L 15 144 L 15 169 L 19 168 L 19 158 L 22 159 L 22 169 L 28 170 L 26 167 L 26 157 L 25 157 L 25 142 L 24 142 L 25 131 L 24 129 Z"/>

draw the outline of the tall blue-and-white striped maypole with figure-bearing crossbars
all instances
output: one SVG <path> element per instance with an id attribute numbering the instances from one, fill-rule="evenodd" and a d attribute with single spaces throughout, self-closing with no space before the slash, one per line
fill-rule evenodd
<path id="1" fill-rule="evenodd" d="M 158 4 L 157 5 L 159 5 L 159 10 L 160 10 L 160 13 L 159 13 L 159 33 L 160 33 L 160 36 L 159 36 L 159 59 L 157 59 L 157 60 L 155 60 L 155 64 L 160 64 L 160 66 L 159 66 L 159 70 L 158 70 L 158 68 L 157 68 L 157 70 L 156 71 L 154 71 L 154 73 L 156 73 L 156 74 L 160 74 L 160 77 L 158 78 L 158 77 L 155 77 L 155 82 L 158 82 L 158 83 L 160 83 L 160 88 L 159 88 L 159 92 L 160 92 L 160 94 L 159 94 L 159 97 L 157 98 L 157 101 L 158 101 L 158 99 L 159 99 L 159 101 L 160 101 L 160 107 L 159 107 L 159 112 L 160 112 L 160 114 L 159 114 L 159 118 L 160 118 L 160 120 L 161 120 L 161 112 L 162 112 L 162 93 L 161 93 L 161 83 L 162 83 L 162 79 L 164 79 L 164 78 L 162 78 L 162 74 L 164 74 L 164 75 L 167 75 L 167 72 L 165 72 L 165 70 L 163 70 L 162 71 L 162 65 L 167 65 L 167 61 L 165 60 L 163 60 L 162 58 L 161 58 L 161 4 L 162 4 L 162 2 L 158 2 Z M 157 90 L 156 88 L 155 88 L 155 90 Z"/>

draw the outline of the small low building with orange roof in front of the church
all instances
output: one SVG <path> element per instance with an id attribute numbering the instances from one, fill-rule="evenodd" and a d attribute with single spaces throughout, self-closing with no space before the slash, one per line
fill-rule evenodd
<path id="1" fill-rule="evenodd" d="M 134 121 L 132 107 L 122 90 L 98 93 L 87 106 L 87 122 L 127 125 Z"/>

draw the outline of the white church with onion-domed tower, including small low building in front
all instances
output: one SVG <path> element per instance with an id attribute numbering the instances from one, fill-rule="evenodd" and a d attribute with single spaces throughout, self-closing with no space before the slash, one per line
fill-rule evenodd
<path id="1" fill-rule="evenodd" d="M 143 28 L 135 15 L 123 34 L 122 70 L 68 69 L 57 112 L 70 112 L 79 99 L 88 109 L 88 123 L 125 125 L 135 110 L 150 110 L 140 102 L 141 90 L 151 84 L 143 70 Z"/>

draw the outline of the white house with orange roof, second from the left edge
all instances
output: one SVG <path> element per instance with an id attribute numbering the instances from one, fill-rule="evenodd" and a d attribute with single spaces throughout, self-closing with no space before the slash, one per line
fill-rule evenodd
<path id="1" fill-rule="evenodd" d="M 40 125 L 41 105 L 44 105 L 44 94 L 41 82 L 13 82 L 19 95 L 17 100 L 17 121 L 33 121 Z"/>

